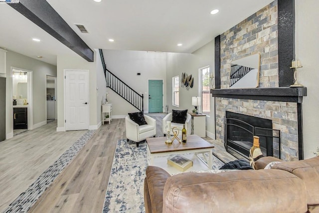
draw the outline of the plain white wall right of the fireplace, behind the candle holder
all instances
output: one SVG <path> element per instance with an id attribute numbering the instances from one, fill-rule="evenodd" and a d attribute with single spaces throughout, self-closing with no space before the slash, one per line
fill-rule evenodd
<path id="1" fill-rule="evenodd" d="M 307 87 L 307 97 L 303 99 L 303 128 L 305 159 L 319 146 L 319 25 L 318 0 L 295 0 L 296 5 L 296 57 L 303 68 L 298 70 L 298 82 Z"/>

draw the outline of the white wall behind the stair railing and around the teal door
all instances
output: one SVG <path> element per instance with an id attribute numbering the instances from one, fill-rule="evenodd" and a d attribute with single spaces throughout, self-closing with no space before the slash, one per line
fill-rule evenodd
<path id="1" fill-rule="evenodd" d="M 161 52 L 103 50 L 106 67 L 132 89 L 144 94 L 144 111 L 148 112 L 148 80 L 163 80 L 163 106 L 166 105 L 166 54 Z M 140 72 L 141 75 L 137 75 Z M 137 109 L 108 89 L 108 102 L 114 117 L 123 117 Z"/>

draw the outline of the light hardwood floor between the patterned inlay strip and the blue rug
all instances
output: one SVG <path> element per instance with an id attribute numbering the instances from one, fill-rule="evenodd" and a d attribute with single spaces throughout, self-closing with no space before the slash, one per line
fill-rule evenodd
<path id="1" fill-rule="evenodd" d="M 102 125 L 31 208 L 33 213 L 101 213 L 125 120 Z"/>

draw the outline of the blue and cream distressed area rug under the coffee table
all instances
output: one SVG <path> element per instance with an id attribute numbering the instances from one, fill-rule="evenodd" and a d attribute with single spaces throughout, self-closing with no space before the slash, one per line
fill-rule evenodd
<path id="1" fill-rule="evenodd" d="M 213 168 L 224 163 L 213 157 Z M 144 179 L 147 167 L 147 145 L 118 140 L 103 213 L 145 213 Z"/>

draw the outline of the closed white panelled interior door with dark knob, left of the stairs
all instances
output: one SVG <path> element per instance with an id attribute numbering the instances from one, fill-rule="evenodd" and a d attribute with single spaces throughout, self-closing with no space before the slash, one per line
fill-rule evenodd
<path id="1" fill-rule="evenodd" d="M 89 129 L 88 71 L 65 71 L 65 130 Z"/>

